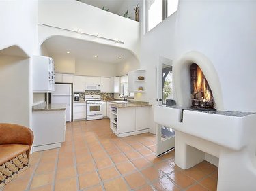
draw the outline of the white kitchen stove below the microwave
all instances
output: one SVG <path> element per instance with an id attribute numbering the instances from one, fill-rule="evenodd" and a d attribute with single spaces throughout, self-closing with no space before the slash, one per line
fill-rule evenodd
<path id="1" fill-rule="evenodd" d="M 103 118 L 100 95 L 85 95 L 86 120 L 98 120 Z"/>

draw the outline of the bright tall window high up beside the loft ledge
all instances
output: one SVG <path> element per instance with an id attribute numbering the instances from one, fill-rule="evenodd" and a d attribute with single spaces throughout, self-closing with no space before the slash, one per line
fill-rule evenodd
<path id="1" fill-rule="evenodd" d="M 147 0 L 147 31 L 177 11 L 179 0 Z"/>

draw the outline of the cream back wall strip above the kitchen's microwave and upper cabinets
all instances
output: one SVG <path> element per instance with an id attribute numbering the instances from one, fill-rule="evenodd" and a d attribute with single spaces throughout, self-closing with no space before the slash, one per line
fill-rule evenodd
<path id="1" fill-rule="evenodd" d="M 117 75 L 117 65 L 97 62 L 94 60 L 88 61 L 83 58 L 76 58 L 76 75 L 113 77 Z"/>

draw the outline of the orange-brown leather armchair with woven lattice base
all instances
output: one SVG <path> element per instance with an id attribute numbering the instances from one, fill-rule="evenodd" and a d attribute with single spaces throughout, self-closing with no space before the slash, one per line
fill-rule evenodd
<path id="1" fill-rule="evenodd" d="M 0 123 L 0 189 L 29 167 L 33 131 L 18 124 Z"/>

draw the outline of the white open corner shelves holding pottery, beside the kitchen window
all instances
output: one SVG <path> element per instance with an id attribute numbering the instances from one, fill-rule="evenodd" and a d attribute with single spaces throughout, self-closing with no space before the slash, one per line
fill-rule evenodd
<path id="1" fill-rule="evenodd" d="M 128 91 L 145 92 L 145 69 L 138 69 L 128 73 Z"/>

